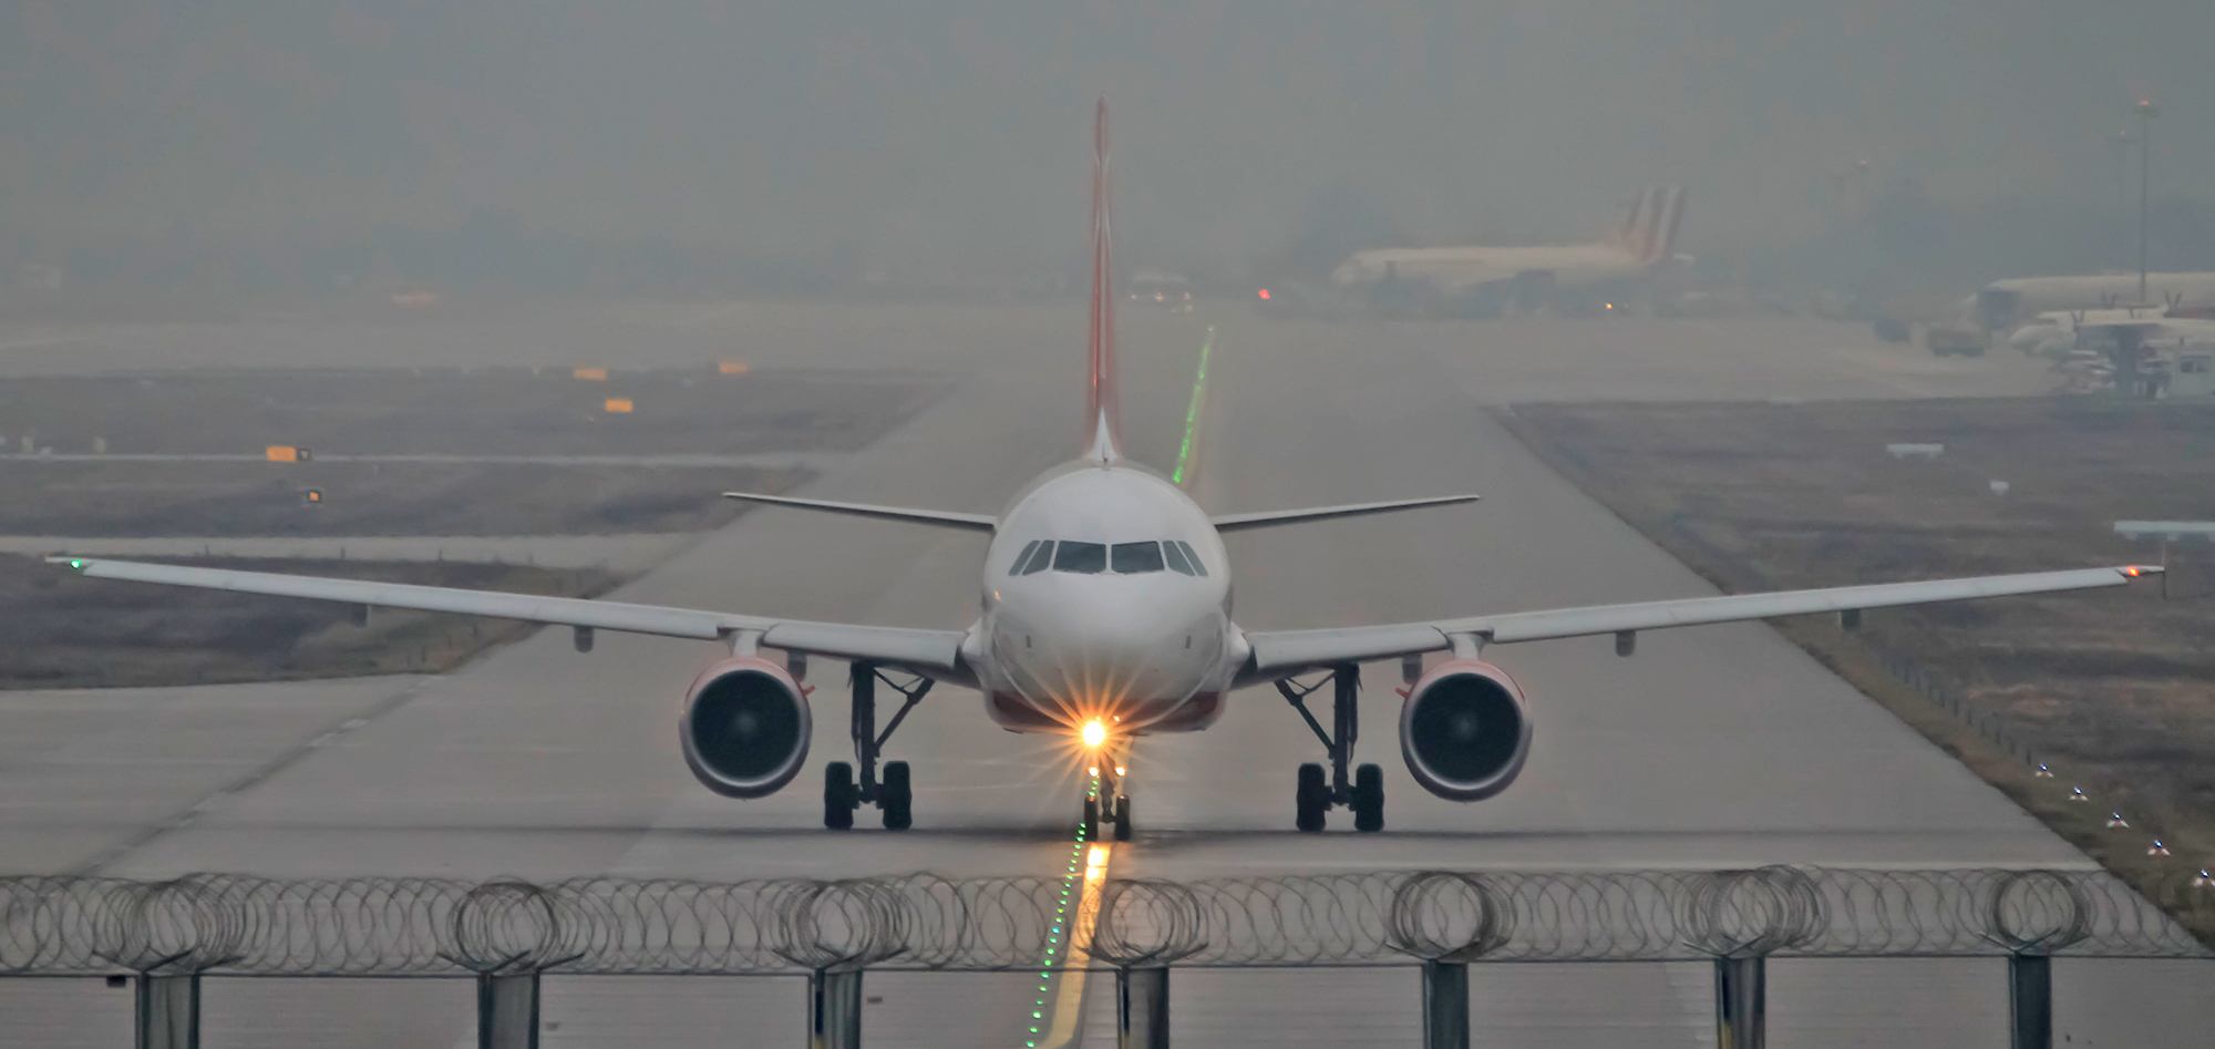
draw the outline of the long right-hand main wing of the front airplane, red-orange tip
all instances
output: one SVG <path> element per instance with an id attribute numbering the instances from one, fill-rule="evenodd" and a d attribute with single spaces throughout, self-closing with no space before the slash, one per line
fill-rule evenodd
<path id="1" fill-rule="evenodd" d="M 1504 615 L 1471 615 L 1460 620 L 1402 622 L 1384 626 L 1331 626 L 1320 631 L 1247 633 L 1254 662 L 1240 682 L 1285 677 L 1316 666 L 1451 648 L 1449 635 L 1466 633 L 1491 644 L 1539 642 L 1548 637 L 1584 637 L 1621 631 L 1659 631 L 1732 620 L 1770 620 L 1825 611 L 1883 609 L 1892 604 L 1958 602 L 2000 598 L 2009 593 L 2082 591 L 2122 586 L 2162 569 L 2118 564 L 2106 569 L 2033 571 L 2020 575 L 1971 575 L 1962 580 L 1878 582 L 1869 586 L 1827 586 L 1816 591 L 1732 593 L 1721 598 L 1681 598 L 1668 602 L 1593 604 L 1584 609 L 1550 609 Z"/>

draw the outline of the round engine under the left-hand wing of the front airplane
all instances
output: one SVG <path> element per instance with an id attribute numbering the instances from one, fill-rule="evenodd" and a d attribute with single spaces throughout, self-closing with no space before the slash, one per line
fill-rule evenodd
<path id="1" fill-rule="evenodd" d="M 724 797 L 775 794 L 808 764 L 813 735 L 808 697 L 793 675 L 762 657 L 700 671 L 678 721 L 684 764 Z"/>

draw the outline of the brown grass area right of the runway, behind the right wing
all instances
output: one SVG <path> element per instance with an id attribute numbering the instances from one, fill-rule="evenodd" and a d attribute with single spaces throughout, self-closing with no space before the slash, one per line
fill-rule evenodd
<path id="1" fill-rule="evenodd" d="M 2211 405 L 1517 405 L 1504 423 L 1725 591 L 2153 562 L 2115 520 L 2215 518 Z M 2215 555 L 2175 547 L 2171 569 L 2171 600 L 2137 584 L 1779 629 L 2215 936 L 2197 899 L 2215 890 L 2182 894 L 2215 863 Z"/>

